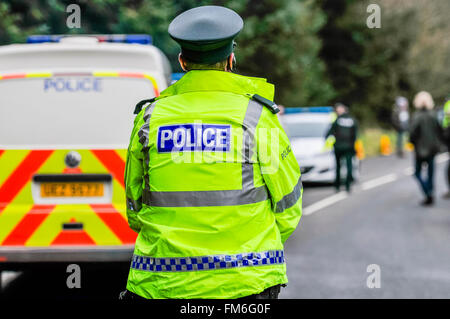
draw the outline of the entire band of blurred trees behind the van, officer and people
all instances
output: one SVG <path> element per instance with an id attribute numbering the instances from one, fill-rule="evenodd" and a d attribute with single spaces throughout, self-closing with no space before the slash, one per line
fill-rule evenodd
<path id="1" fill-rule="evenodd" d="M 71 0 L 2 0 L 0 44 L 25 42 L 32 34 L 151 34 L 154 45 L 180 71 L 179 48 L 167 27 L 199 5 L 224 5 L 245 27 L 237 38 L 238 72 L 276 85 L 285 106 L 352 107 L 365 127 L 387 128 L 397 95 L 409 100 L 426 90 L 443 104 L 450 72 L 450 2 L 380 0 L 382 27 L 369 29 L 366 8 L 356 0 L 102 0 L 77 1 L 80 29 L 66 27 Z M 384 124 L 384 125 L 383 125 Z"/>

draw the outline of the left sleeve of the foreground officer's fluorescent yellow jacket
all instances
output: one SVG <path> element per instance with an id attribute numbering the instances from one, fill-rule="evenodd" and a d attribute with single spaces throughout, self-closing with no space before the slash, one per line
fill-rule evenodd
<path id="1" fill-rule="evenodd" d="M 139 129 L 144 124 L 143 111 L 134 120 L 125 164 L 125 193 L 127 218 L 130 228 L 135 232 L 141 229 L 138 213 L 142 208 L 142 185 L 144 179 L 144 162 L 142 144 L 139 142 Z"/>

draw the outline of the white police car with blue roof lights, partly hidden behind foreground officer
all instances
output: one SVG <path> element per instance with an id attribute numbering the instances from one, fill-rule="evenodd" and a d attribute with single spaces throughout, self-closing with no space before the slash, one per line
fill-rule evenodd
<path id="1" fill-rule="evenodd" d="M 335 157 L 332 138 L 325 135 L 336 118 L 333 107 L 286 108 L 280 122 L 292 145 L 302 172 L 302 181 L 333 183 L 335 181 Z M 353 177 L 358 179 L 359 160 L 354 157 Z M 342 163 L 344 164 L 344 163 Z M 345 165 L 341 176 L 346 176 Z"/>

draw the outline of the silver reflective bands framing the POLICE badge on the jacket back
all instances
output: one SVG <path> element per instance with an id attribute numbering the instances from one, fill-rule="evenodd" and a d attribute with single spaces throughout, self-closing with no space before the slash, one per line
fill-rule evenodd
<path id="1" fill-rule="evenodd" d="M 153 106 L 150 106 L 152 108 Z M 181 191 L 181 192 L 155 192 L 150 191 L 145 181 L 143 203 L 155 207 L 209 207 L 209 206 L 236 206 L 253 204 L 270 198 L 265 185 L 255 187 L 253 184 L 253 163 L 251 157 L 255 146 L 255 130 L 262 113 L 263 106 L 250 100 L 243 121 L 242 146 L 242 189 L 217 191 Z M 151 114 L 151 111 L 147 109 Z M 145 116 L 144 115 L 144 118 Z M 146 119 L 148 122 L 150 116 Z M 144 127 L 144 126 L 143 126 Z M 143 131 L 145 133 L 145 131 Z M 146 152 L 148 153 L 148 151 Z M 148 162 L 146 163 L 148 167 Z M 147 186 L 148 185 L 148 186 Z"/>

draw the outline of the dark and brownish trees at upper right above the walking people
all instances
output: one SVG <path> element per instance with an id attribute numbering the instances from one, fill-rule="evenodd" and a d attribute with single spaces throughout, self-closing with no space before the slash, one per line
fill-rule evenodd
<path id="1" fill-rule="evenodd" d="M 366 27 L 371 3 L 381 28 Z M 437 104 L 448 94 L 450 20 L 447 0 L 323 0 L 321 58 L 339 99 L 365 126 L 390 126 L 395 97 L 429 91 Z"/>

